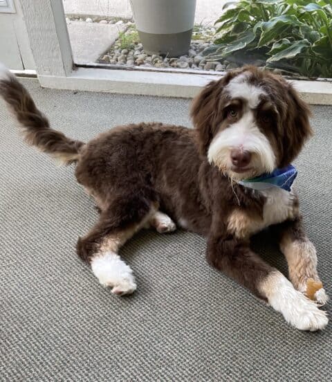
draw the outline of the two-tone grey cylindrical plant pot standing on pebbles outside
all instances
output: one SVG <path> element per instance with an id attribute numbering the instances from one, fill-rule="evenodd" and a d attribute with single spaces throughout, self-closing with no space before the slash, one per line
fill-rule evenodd
<path id="1" fill-rule="evenodd" d="M 140 41 L 149 54 L 188 53 L 196 0 L 131 0 Z"/>

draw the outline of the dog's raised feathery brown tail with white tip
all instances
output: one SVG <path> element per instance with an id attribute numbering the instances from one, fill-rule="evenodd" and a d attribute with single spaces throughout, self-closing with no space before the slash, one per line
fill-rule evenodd
<path id="1" fill-rule="evenodd" d="M 20 122 L 24 138 L 29 145 L 38 147 L 64 165 L 77 161 L 84 143 L 50 129 L 48 119 L 37 109 L 28 91 L 1 63 L 0 96 Z"/>

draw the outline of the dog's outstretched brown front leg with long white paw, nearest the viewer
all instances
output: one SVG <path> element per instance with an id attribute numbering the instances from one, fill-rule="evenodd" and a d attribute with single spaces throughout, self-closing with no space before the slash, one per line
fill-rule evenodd
<path id="1" fill-rule="evenodd" d="M 310 331 L 326 327 L 326 313 L 252 252 L 247 242 L 232 235 L 210 235 L 207 258 L 217 269 L 266 300 L 293 327 Z"/>

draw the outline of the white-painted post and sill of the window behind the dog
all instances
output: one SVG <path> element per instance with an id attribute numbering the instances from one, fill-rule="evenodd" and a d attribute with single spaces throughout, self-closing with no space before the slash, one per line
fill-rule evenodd
<path id="1" fill-rule="evenodd" d="M 206 73 L 78 68 L 73 62 L 62 0 L 21 0 L 42 87 L 192 98 L 211 80 Z M 311 104 L 332 104 L 332 82 L 292 80 Z"/>

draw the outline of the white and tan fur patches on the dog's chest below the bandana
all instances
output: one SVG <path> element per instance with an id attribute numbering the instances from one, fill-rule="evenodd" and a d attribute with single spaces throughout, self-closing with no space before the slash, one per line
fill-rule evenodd
<path id="1" fill-rule="evenodd" d="M 297 214 L 293 192 L 276 187 L 260 192 L 266 197 L 263 218 L 252 217 L 241 208 L 234 210 L 228 218 L 228 230 L 237 237 L 250 237 L 268 226 L 293 219 Z"/>

